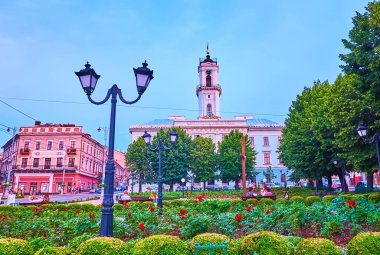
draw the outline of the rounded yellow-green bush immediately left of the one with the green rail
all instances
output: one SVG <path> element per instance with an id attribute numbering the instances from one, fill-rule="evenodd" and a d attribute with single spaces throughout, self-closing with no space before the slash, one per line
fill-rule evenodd
<path id="1" fill-rule="evenodd" d="M 176 236 L 153 235 L 138 241 L 133 255 L 190 255 L 184 241 Z"/>

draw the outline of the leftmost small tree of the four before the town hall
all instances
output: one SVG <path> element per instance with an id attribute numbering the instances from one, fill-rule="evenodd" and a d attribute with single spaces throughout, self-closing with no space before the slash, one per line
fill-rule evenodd
<path id="1" fill-rule="evenodd" d="M 129 145 L 126 153 L 127 163 L 131 166 L 131 175 L 139 180 L 139 192 L 142 191 L 142 182 L 149 182 L 154 178 L 149 168 L 147 146 L 144 139 L 139 137 Z"/>

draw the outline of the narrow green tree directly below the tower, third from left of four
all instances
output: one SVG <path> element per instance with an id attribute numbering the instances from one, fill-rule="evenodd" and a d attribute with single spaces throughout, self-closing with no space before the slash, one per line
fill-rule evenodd
<path id="1" fill-rule="evenodd" d="M 196 137 L 193 140 L 190 152 L 191 169 L 196 174 L 196 182 L 205 182 L 215 179 L 215 171 L 218 166 L 215 144 L 212 139 Z"/>

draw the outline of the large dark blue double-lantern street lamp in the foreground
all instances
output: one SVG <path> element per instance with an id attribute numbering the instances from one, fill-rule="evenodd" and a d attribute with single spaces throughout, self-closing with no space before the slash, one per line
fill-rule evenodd
<path id="1" fill-rule="evenodd" d="M 100 75 L 96 74 L 95 70 L 90 68 L 91 65 L 87 62 L 85 69 L 75 72 L 82 85 L 84 92 L 87 94 L 88 100 L 96 105 L 104 104 L 111 97 L 111 119 L 110 119 L 110 134 L 109 134 L 109 146 L 108 146 L 108 160 L 105 168 L 105 188 L 102 208 L 102 219 L 100 224 L 100 236 L 113 236 L 113 189 L 114 189 L 114 142 L 115 142 L 115 120 L 116 120 L 116 102 L 117 96 L 120 101 L 125 104 L 134 104 L 140 100 L 142 94 L 145 92 L 149 85 L 149 82 L 153 79 L 153 71 L 147 68 L 146 61 L 142 64 L 142 67 L 133 68 L 136 77 L 136 86 L 138 97 L 133 101 L 126 101 L 121 93 L 121 89 L 114 84 L 107 92 L 106 97 L 96 102 L 92 100 L 91 94 L 95 90 L 96 83 L 100 78 Z"/>

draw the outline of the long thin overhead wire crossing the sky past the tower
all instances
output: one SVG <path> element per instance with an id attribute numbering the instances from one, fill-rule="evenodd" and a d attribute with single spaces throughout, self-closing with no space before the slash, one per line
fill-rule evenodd
<path id="1" fill-rule="evenodd" d="M 47 100 L 47 99 L 32 99 L 32 98 L 15 98 L 15 97 L 0 97 L 2 99 L 8 100 L 20 100 L 20 101 L 34 101 L 34 102 L 45 102 L 45 103 L 61 103 L 61 104 L 81 104 L 81 105 L 91 105 L 91 103 L 77 102 L 77 101 L 62 101 L 62 100 Z M 0 100 L 1 101 L 1 100 Z M 155 110 L 173 110 L 173 111 L 188 111 L 188 112 L 197 112 L 195 109 L 186 109 L 186 108 L 172 108 L 172 107 L 157 107 L 157 106 L 135 106 L 135 105 L 121 105 L 122 107 L 127 108 L 140 108 L 140 109 L 155 109 Z M 261 115 L 261 116 L 287 116 L 286 114 L 271 114 L 271 113 L 243 113 L 243 112 L 227 112 L 222 111 L 222 113 L 229 114 L 241 114 L 241 115 Z"/>

